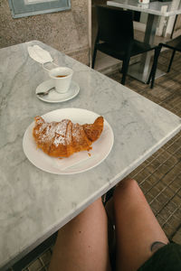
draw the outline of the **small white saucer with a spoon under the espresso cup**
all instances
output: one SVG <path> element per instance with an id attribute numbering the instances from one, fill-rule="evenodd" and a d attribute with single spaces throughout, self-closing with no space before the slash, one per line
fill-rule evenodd
<path id="1" fill-rule="evenodd" d="M 47 81 L 44 81 L 42 84 L 40 84 L 35 91 L 36 97 L 39 99 L 42 99 L 43 101 L 47 103 L 60 103 L 66 100 L 69 100 L 71 98 L 74 98 L 78 95 L 80 91 L 80 86 L 74 82 L 71 81 L 70 89 L 66 93 L 58 93 L 55 89 L 52 89 L 54 86 L 53 80 L 49 79 Z M 42 96 L 37 95 L 38 92 L 43 92 L 48 89 L 52 89 L 48 95 Z"/>

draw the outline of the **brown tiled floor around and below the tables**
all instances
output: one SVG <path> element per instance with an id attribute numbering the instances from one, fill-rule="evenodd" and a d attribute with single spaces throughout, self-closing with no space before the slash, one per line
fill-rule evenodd
<path id="1" fill-rule="evenodd" d="M 163 51 L 159 57 L 159 68 L 167 70 L 169 51 Z M 171 71 L 155 82 L 155 88 L 128 77 L 126 86 L 140 95 L 165 107 L 181 117 L 181 57 L 176 58 Z M 121 74 L 109 75 L 120 81 Z M 181 133 L 148 158 L 143 164 L 129 174 L 135 178 L 154 211 L 157 220 L 165 230 L 167 237 L 181 244 Z M 34 259 L 24 271 L 48 270 L 52 248 Z"/>

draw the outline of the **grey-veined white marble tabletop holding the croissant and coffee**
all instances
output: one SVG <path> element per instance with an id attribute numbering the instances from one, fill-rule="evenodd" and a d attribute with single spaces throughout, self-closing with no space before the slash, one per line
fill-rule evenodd
<path id="1" fill-rule="evenodd" d="M 76 98 L 48 104 L 36 87 L 49 79 L 29 58 L 39 44 L 59 64 L 74 70 L 81 90 Z M 41 42 L 0 50 L 0 268 L 14 263 L 71 220 L 180 130 L 179 117 L 95 70 Z M 105 117 L 115 141 L 107 159 L 85 173 L 45 173 L 24 155 L 24 132 L 36 115 L 80 107 Z"/>

